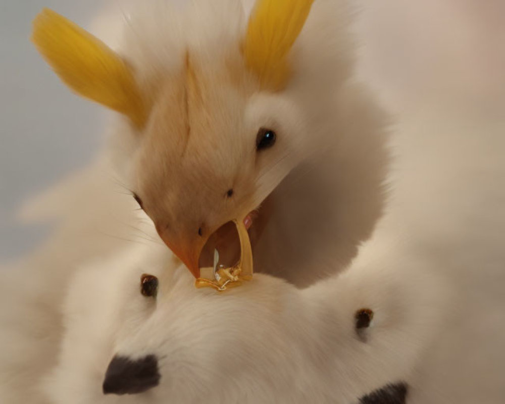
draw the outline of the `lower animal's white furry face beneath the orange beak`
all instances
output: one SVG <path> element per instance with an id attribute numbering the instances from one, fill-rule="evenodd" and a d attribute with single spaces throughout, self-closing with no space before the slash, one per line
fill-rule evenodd
<path id="1" fill-rule="evenodd" d="M 114 354 L 157 355 L 162 375 L 119 402 L 352 402 L 410 376 L 445 304 L 422 267 L 398 277 L 369 266 L 305 290 L 258 274 L 221 295 L 195 289 L 184 267 L 160 264 L 168 260 L 141 246 L 77 274 L 45 387 L 53 402 L 118 401 L 102 393 Z M 139 292 L 145 271 L 159 277 L 156 301 Z M 375 310 L 366 341 L 354 327 L 364 307 Z"/>

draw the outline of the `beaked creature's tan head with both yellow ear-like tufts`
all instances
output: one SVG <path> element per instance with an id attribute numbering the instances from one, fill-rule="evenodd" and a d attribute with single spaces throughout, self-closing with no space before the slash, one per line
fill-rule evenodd
<path id="1" fill-rule="evenodd" d="M 209 31 L 205 16 L 166 21 L 182 28 L 158 48 L 133 26 L 124 55 L 52 11 L 35 20 L 33 40 L 61 79 L 126 118 L 129 187 L 194 276 L 208 237 L 230 220 L 249 226 L 310 141 L 285 93 L 290 49 L 312 3 L 258 0 L 243 25 L 233 21 L 242 10 L 219 11 L 236 29 L 214 17 Z"/>

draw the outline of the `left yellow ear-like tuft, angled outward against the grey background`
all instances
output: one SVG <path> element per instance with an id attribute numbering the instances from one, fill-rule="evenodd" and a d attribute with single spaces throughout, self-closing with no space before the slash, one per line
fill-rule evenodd
<path id="1" fill-rule="evenodd" d="M 73 91 L 128 116 L 138 127 L 146 110 L 131 69 L 105 43 L 49 9 L 33 21 L 32 41 Z"/>

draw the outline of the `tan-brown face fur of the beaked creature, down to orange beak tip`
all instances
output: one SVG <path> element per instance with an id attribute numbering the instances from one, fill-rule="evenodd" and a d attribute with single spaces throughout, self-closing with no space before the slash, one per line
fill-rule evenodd
<path id="1" fill-rule="evenodd" d="M 141 135 L 132 191 L 193 273 L 208 236 L 256 208 L 260 128 L 244 114 L 258 88 L 238 62 L 203 69 L 186 53 L 182 69 L 162 81 Z"/>

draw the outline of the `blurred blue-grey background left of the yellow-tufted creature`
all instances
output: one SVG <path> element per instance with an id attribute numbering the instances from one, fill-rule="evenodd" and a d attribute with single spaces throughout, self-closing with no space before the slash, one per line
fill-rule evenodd
<path id="1" fill-rule="evenodd" d="M 42 7 L 86 25 L 102 1 L 0 3 L 0 259 L 15 258 L 45 227 L 22 226 L 22 202 L 86 164 L 100 143 L 100 109 L 71 94 L 41 60 L 29 36 Z"/>

